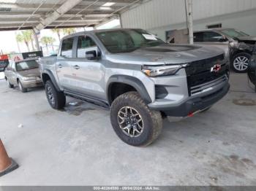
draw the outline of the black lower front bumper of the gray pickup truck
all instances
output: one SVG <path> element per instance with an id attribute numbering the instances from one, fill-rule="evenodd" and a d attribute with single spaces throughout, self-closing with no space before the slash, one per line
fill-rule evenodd
<path id="1" fill-rule="evenodd" d="M 230 84 L 228 82 L 220 88 L 219 90 L 210 93 L 208 95 L 202 95 L 201 97 L 189 98 L 187 101 L 184 101 L 182 104 L 177 106 L 159 106 L 151 109 L 164 112 L 167 116 L 172 117 L 187 117 L 189 114 L 203 110 L 212 106 L 221 98 L 223 98 L 228 90 L 230 89 Z"/>

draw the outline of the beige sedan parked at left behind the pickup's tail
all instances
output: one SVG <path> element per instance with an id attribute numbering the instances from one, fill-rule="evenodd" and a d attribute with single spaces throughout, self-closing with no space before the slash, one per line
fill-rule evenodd
<path id="1" fill-rule="evenodd" d="M 18 85 L 21 92 L 25 93 L 30 87 L 42 86 L 37 59 L 26 59 L 10 62 L 4 71 L 7 85 L 12 88 Z"/>

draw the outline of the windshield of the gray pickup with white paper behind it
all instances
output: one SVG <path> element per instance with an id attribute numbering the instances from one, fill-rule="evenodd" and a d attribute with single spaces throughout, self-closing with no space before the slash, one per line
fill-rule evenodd
<path id="1" fill-rule="evenodd" d="M 154 34 L 149 34 L 141 29 L 102 31 L 97 32 L 96 35 L 111 53 L 132 52 L 141 47 L 165 44 Z"/>

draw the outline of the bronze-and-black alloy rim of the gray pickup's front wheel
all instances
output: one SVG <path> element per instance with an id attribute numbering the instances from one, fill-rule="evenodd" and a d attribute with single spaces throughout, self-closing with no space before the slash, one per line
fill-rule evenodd
<path id="1" fill-rule="evenodd" d="M 138 137 L 143 133 L 143 119 L 131 106 L 124 106 L 118 112 L 119 128 L 129 137 Z"/>

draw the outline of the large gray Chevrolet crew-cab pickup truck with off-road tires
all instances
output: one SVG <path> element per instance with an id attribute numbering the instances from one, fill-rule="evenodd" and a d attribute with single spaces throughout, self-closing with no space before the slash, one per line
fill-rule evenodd
<path id="1" fill-rule="evenodd" d="M 157 139 L 162 117 L 204 111 L 230 87 L 222 50 L 170 45 L 142 29 L 66 36 L 40 70 L 53 109 L 64 108 L 66 95 L 104 106 L 118 137 L 133 146 Z"/>

